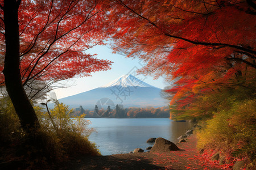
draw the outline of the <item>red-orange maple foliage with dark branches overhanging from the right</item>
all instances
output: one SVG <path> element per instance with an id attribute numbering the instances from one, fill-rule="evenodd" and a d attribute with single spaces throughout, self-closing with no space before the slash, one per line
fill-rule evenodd
<path id="1" fill-rule="evenodd" d="M 255 89 L 254 1 L 116 2 L 114 51 L 146 62 L 140 73 L 175 80 L 171 105 L 187 107 L 220 86 Z"/>

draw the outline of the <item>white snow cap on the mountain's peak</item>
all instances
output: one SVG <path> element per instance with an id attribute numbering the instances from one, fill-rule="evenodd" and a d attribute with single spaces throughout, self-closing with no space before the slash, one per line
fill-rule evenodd
<path id="1" fill-rule="evenodd" d="M 142 80 L 136 78 L 135 76 L 133 76 L 131 74 L 122 75 L 119 78 L 117 78 L 117 79 L 113 80 L 112 82 L 105 84 L 104 86 L 101 86 L 101 87 L 112 87 L 112 86 L 154 87 L 154 86 L 151 86 L 150 84 L 143 82 Z"/>

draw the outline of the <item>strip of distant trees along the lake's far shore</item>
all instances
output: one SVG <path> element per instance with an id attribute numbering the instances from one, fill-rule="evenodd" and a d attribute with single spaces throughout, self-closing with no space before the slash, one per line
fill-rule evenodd
<path id="1" fill-rule="evenodd" d="M 98 109 L 97 105 L 95 106 L 93 111 L 88 109 L 77 108 L 73 111 L 70 116 L 76 117 L 81 114 L 85 114 L 87 118 L 97 118 L 97 117 L 110 117 L 110 118 L 169 118 L 170 117 L 170 109 L 168 106 L 160 107 L 160 108 L 123 108 L 119 107 L 117 104 L 114 109 L 108 107 L 108 109 Z"/>

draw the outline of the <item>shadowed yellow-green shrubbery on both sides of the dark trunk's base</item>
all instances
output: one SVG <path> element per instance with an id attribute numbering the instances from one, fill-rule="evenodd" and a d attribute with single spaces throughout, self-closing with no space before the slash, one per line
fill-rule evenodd
<path id="1" fill-rule="evenodd" d="M 9 97 L 0 99 L 0 162 L 11 168 L 49 168 L 49 165 L 63 162 L 76 155 L 100 155 L 94 143 L 88 141 L 93 129 L 84 115 L 69 117 L 72 110 L 56 101 L 49 112 L 35 106 L 41 128 L 34 137 L 27 135 L 20 127 Z M 35 145 L 36 144 L 36 145 Z M 7 167 L 10 168 L 10 167 Z"/>

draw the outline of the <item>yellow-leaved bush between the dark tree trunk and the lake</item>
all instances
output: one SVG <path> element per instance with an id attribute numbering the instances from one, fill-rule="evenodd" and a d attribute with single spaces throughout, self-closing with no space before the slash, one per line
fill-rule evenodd
<path id="1" fill-rule="evenodd" d="M 59 101 L 55 101 L 55 107 L 49 112 L 44 112 L 42 107 L 35 107 L 35 111 L 41 129 L 53 136 L 55 142 L 63 148 L 62 152 L 68 155 L 100 155 L 96 145 L 88 141 L 94 129 L 88 127 L 90 122 L 85 120 L 84 114 L 69 117 L 72 109 Z"/>

